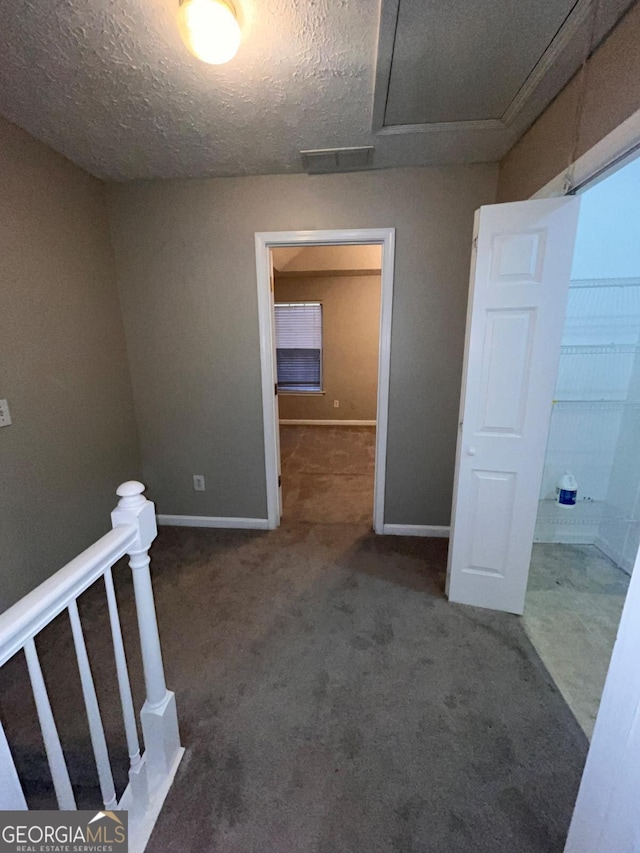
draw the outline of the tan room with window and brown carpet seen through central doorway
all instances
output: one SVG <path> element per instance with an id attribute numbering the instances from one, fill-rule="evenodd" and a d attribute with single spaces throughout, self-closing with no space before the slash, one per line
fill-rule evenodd
<path id="1" fill-rule="evenodd" d="M 371 526 L 381 247 L 272 250 L 283 522 Z"/>

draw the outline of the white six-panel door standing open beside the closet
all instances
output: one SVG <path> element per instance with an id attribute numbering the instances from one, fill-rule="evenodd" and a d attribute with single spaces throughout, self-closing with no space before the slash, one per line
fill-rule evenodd
<path id="1" fill-rule="evenodd" d="M 578 207 L 576 198 L 558 198 L 476 213 L 451 601 L 524 609 Z"/>

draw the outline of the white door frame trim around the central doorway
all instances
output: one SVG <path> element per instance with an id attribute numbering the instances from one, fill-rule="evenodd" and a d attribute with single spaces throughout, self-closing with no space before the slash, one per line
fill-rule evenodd
<path id="1" fill-rule="evenodd" d="M 267 518 L 269 529 L 280 524 L 278 507 L 278 448 L 275 405 L 276 366 L 273 360 L 275 337 L 273 294 L 269 282 L 269 255 L 280 246 L 353 246 L 382 247 L 380 276 L 380 347 L 378 352 L 378 408 L 376 413 L 375 485 L 373 527 L 382 533 L 384 490 L 387 464 L 387 426 L 389 420 L 389 369 L 391 363 L 391 313 L 395 228 L 355 228 L 332 231 L 263 231 L 256 234 L 256 273 L 258 280 L 258 321 L 260 327 L 260 367 L 262 371 L 262 411 L 264 421 L 264 457 L 267 481 Z"/>

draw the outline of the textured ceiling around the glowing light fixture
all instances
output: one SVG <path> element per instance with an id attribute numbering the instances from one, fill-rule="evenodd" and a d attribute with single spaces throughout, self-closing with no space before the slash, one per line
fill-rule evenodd
<path id="1" fill-rule="evenodd" d="M 180 42 L 177 0 L 0 0 L 0 114 L 108 180 L 298 172 L 301 150 L 362 145 L 375 146 L 374 168 L 493 161 L 523 129 L 524 120 L 373 131 L 374 85 L 379 101 L 389 83 L 376 59 L 395 31 L 385 7 L 397 14 L 400 0 L 383 0 L 380 51 L 377 0 L 235 2 L 240 51 L 208 66 Z M 628 2 L 600 0 L 602 31 Z M 444 16 L 451 6 L 420 0 L 418 13 L 421 3 Z M 536 88 L 524 119 L 575 70 L 574 53 Z M 473 56 L 470 43 L 430 75 L 444 80 L 447 63 Z M 402 73 L 408 81 L 417 70 Z"/>

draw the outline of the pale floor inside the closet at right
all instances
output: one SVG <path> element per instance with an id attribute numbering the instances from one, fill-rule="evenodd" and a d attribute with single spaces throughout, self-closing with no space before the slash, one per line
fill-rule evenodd
<path id="1" fill-rule="evenodd" d="M 628 586 L 595 545 L 533 546 L 525 631 L 589 738 Z"/>

